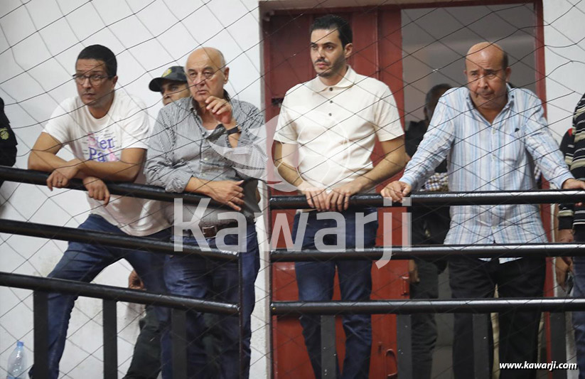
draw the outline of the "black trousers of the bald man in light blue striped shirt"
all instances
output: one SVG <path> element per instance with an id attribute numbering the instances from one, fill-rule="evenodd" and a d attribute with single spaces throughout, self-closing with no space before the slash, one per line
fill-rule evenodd
<path id="1" fill-rule="evenodd" d="M 449 284 L 454 299 L 493 297 L 542 297 L 544 258 L 521 258 L 500 264 L 472 257 L 449 261 Z M 453 332 L 453 373 L 456 379 L 473 378 L 472 314 L 456 313 Z M 500 363 L 536 363 L 540 311 L 506 311 L 500 320 Z M 493 351 L 491 323 L 488 321 L 490 351 Z M 490 356 L 490 363 L 493 354 Z M 536 370 L 501 370 L 500 379 L 536 378 Z"/>

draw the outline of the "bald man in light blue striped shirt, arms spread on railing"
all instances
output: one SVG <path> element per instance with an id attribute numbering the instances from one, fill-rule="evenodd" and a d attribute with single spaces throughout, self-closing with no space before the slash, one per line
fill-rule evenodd
<path id="1" fill-rule="evenodd" d="M 478 43 L 466 55 L 467 87 L 439 100 L 429 131 L 399 181 L 383 191 L 401 201 L 448 157 L 451 191 L 513 191 L 535 187 L 535 163 L 562 188 L 585 188 L 567 170 L 552 139 L 538 97 L 512 89 L 508 55 L 493 43 Z M 446 244 L 545 242 L 537 205 L 451 207 Z M 455 298 L 542 297 L 544 258 L 453 258 L 449 282 Z M 540 312 L 499 314 L 500 363 L 536 362 Z M 453 373 L 473 378 L 471 314 L 455 315 Z M 490 366 L 491 367 L 491 366 Z M 535 378 L 535 370 L 503 370 L 500 378 Z"/>

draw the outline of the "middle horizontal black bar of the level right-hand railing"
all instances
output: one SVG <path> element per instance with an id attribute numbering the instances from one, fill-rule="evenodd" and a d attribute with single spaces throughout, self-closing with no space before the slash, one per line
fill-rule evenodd
<path id="1" fill-rule="evenodd" d="M 413 245 L 367 247 L 363 250 L 346 249 L 289 251 L 276 249 L 270 252 L 271 262 L 306 262 L 328 260 L 380 260 L 390 251 L 392 260 L 414 258 L 439 259 L 446 257 L 581 257 L 585 256 L 585 243 L 529 243 L 504 245 Z"/>

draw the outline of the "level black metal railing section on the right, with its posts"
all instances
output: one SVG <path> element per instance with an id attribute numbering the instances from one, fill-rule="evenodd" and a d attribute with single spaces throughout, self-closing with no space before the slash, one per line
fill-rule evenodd
<path id="1" fill-rule="evenodd" d="M 576 203 L 585 200 L 585 191 L 541 190 L 541 191 L 490 191 L 490 192 L 449 192 L 412 193 L 404 204 L 390 204 L 380 195 L 367 194 L 352 196 L 349 205 L 360 206 L 402 206 L 438 207 L 446 205 L 502 205 L 537 203 Z M 306 209 L 305 196 L 273 196 L 269 198 L 269 210 Z M 391 252 L 393 260 L 410 260 L 449 257 L 562 257 L 585 256 L 582 243 L 532 243 L 505 245 L 416 245 L 408 247 L 384 246 L 355 250 L 300 250 L 273 249 L 269 262 L 323 262 L 328 260 L 380 260 Z M 387 259 L 387 258 L 386 258 Z M 270 277 L 272 289 L 272 275 Z M 380 301 L 274 301 L 270 292 L 272 316 L 321 315 L 321 375 L 323 378 L 336 373 L 335 316 L 343 314 L 396 314 L 397 315 L 397 366 L 400 378 L 412 378 L 412 339 L 410 314 L 415 313 L 471 313 L 473 314 L 473 358 L 476 379 L 491 377 L 489 365 L 490 346 L 488 338 L 488 317 L 492 312 L 525 309 L 551 312 L 551 328 L 555 333 L 552 340 L 552 358 L 557 362 L 566 361 L 565 352 L 565 311 L 584 311 L 585 299 L 563 298 L 505 298 L 505 299 L 435 299 L 435 300 L 380 300 Z M 272 322 L 272 319 L 271 319 Z M 555 370 L 554 379 L 566 379 L 567 372 Z"/>

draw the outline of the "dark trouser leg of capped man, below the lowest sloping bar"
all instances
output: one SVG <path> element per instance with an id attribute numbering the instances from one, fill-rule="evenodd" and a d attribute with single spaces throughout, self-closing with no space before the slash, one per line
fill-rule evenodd
<path id="1" fill-rule="evenodd" d="M 139 321 L 140 334 L 134 345 L 132 363 L 124 379 L 156 379 L 161 372 L 161 329 L 155 309 L 146 307 L 146 315 Z"/>

